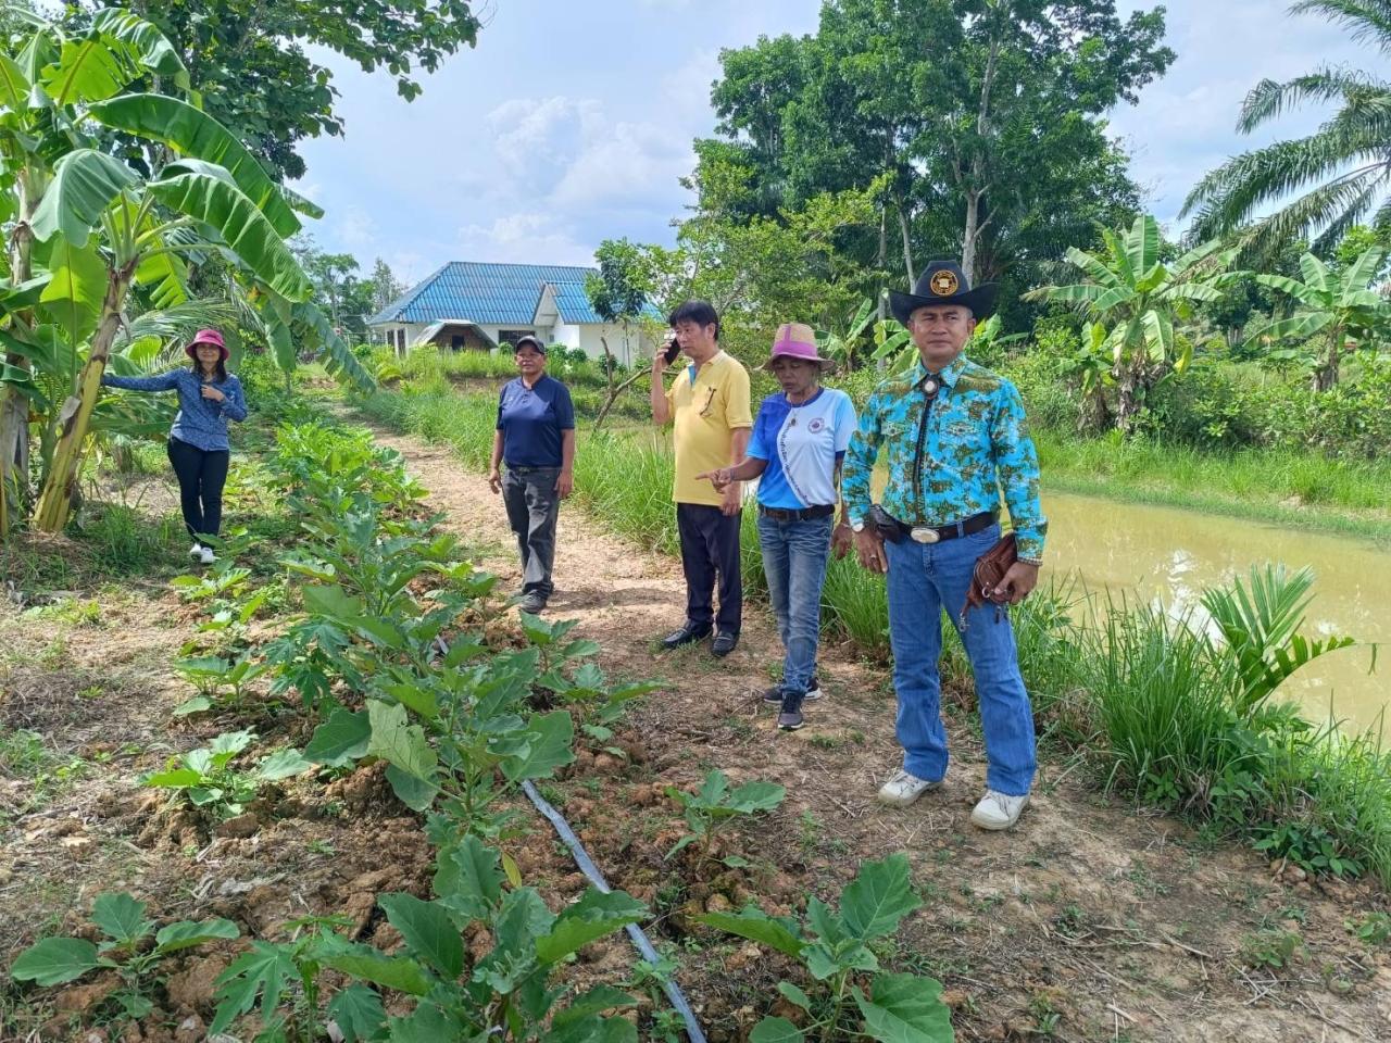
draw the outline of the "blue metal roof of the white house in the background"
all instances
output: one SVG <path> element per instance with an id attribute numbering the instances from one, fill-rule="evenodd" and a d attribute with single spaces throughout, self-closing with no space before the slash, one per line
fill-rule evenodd
<path id="1" fill-rule="evenodd" d="M 369 318 L 367 324 L 463 318 L 490 325 L 527 327 L 536 316 L 541 286 L 547 282 L 556 288 L 556 303 L 565 321 L 598 323 L 601 320 L 584 296 L 584 278 L 591 274 L 597 270 L 565 264 L 449 261 Z M 586 317 L 572 318 L 572 313 Z"/>

